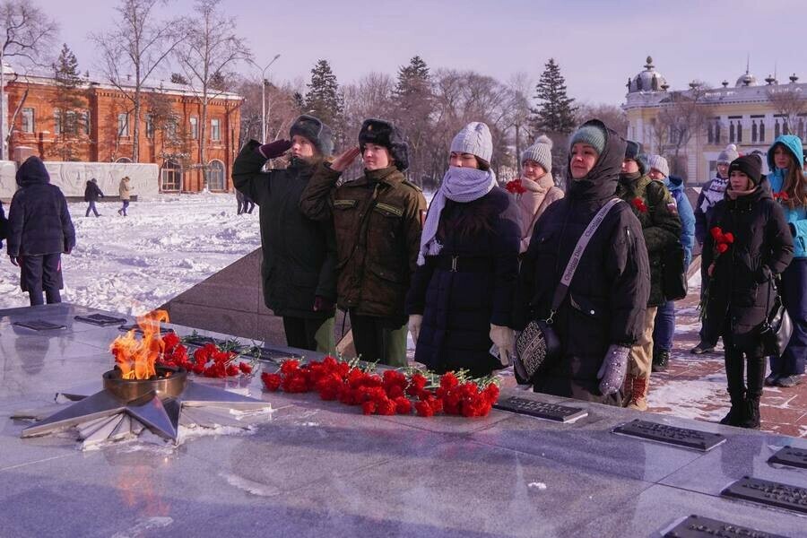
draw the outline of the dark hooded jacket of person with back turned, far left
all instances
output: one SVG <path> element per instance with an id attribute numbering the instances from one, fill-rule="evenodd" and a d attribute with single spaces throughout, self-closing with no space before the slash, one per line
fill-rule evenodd
<path id="1" fill-rule="evenodd" d="M 33 256 L 70 252 L 75 229 L 61 189 L 39 157 L 29 157 L 17 170 L 17 185 L 8 211 L 8 255 Z"/>

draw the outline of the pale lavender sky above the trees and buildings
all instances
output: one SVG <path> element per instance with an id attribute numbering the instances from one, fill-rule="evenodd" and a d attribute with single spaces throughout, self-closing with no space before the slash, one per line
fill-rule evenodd
<path id="1" fill-rule="evenodd" d="M 98 78 L 87 34 L 113 24 L 115 0 L 30 0 L 61 24 L 82 72 Z M 692 79 L 719 86 L 745 71 L 807 82 L 807 0 L 223 0 L 256 62 L 275 81 L 308 81 L 319 58 L 339 82 L 371 71 L 395 74 L 420 55 L 430 68 L 473 69 L 507 82 L 537 82 L 550 57 L 577 100 L 619 104 L 625 82 L 649 54 L 673 89 Z M 190 13 L 172 0 L 165 16 Z M 256 73 L 245 65 L 244 73 Z"/>

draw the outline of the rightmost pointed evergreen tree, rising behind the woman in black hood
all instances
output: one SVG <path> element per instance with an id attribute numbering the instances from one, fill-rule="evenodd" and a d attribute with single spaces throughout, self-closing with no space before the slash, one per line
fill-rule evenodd
<path id="1" fill-rule="evenodd" d="M 575 128 L 575 100 L 567 96 L 566 81 L 554 58 L 544 66 L 541 80 L 535 86 L 535 100 L 539 102 L 532 109 L 534 133 L 569 134 Z"/>

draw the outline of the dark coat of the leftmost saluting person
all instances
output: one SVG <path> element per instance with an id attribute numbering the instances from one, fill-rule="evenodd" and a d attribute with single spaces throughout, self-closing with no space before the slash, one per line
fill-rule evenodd
<path id="1" fill-rule="evenodd" d="M 332 221 L 311 221 L 299 211 L 314 163 L 293 161 L 287 169 L 263 172 L 260 143 L 247 143 L 232 165 L 232 182 L 260 206 L 264 301 L 277 316 L 325 318 L 334 308 L 314 311 L 314 299 L 336 301 L 336 242 Z"/>

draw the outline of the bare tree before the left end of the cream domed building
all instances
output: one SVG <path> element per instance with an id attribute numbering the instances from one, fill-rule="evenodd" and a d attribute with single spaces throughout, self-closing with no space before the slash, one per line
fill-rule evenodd
<path id="1" fill-rule="evenodd" d="M 708 103 L 708 88 L 705 84 L 692 82 L 689 91 L 671 91 L 662 101 L 662 109 L 656 119 L 656 133 L 661 142 L 659 152 L 665 146 L 672 154 L 671 172 L 686 180 L 687 167 L 681 162 L 681 148 L 687 146 L 693 136 L 703 134 L 715 109 Z M 663 138 L 662 138 L 663 136 Z"/>

